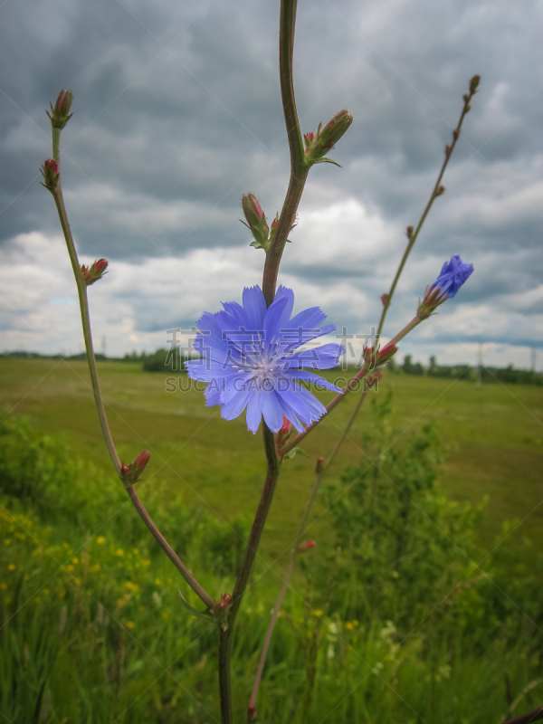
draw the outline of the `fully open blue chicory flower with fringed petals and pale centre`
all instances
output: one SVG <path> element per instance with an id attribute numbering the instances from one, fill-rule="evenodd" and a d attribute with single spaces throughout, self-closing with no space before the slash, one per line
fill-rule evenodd
<path id="1" fill-rule="evenodd" d="M 299 432 L 319 420 L 326 408 L 301 382 L 339 392 L 339 387 L 307 368 L 336 367 L 344 348 L 326 344 L 299 349 L 333 332 L 335 325 L 319 328 L 326 319 L 319 307 L 291 319 L 293 306 L 290 289 L 280 287 L 267 309 L 261 288 L 251 287 L 243 290 L 243 306 L 227 302 L 223 311 L 205 312 L 197 322 L 194 347 L 202 358 L 186 362 L 188 376 L 208 383 L 207 406 L 221 405 L 225 420 L 233 420 L 247 408 L 247 427 L 252 433 L 258 430 L 262 415 L 273 433 L 281 429 L 283 416 Z"/>

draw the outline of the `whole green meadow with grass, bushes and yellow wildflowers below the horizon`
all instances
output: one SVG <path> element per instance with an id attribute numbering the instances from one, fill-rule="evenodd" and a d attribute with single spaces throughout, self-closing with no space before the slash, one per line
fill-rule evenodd
<path id="1" fill-rule="evenodd" d="M 152 453 L 139 496 L 205 589 L 232 591 L 261 435 L 206 408 L 184 375 L 99 371 L 120 458 Z M 111 471 L 86 363 L 1 358 L 0 374 L 3 719 L 218 721 L 214 624 L 180 603 L 182 588 L 198 606 Z M 315 461 L 356 402 L 283 463 L 236 623 L 235 721 Z M 284 601 L 259 724 L 500 724 L 540 706 L 542 424 L 541 387 L 385 372 L 316 501 L 317 546 Z"/>

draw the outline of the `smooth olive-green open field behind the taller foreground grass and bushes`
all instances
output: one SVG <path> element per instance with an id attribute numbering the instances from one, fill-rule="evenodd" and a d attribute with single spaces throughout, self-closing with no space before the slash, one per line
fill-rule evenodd
<path id="1" fill-rule="evenodd" d="M 152 452 L 146 484 L 157 478 L 165 489 L 182 491 L 187 503 L 200 502 L 221 518 L 251 516 L 260 496 L 263 452 L 260 434 L 246 430 L 244 416 L 221 419 L 206 408 L 195 390 L 167 392 L 165 376 L 144 373 L 138 364 L 99 363 L 110 427 L 121 459 L 140 450 Z M 69 445 L 73 452 L 105 471 L 110 461 L 100 436 L 85 362 L 47 359 L 0 359 L 0 409 L 29 417 L 37 431 Z M 180 377 L 186 384 L 186 376 Z M 449 453 L 443 464 L 443 488 L 454 499 L 490 500 L 481 527 L 481 542 L 491 546 L 501 521 L 522 522 L 513 536 L 540 540 L 543 524 L 543 389 L 385 374 L 376 395 L 393 394 L 391 416 L 398 438 L 434 420 Z M 322 395 L 330 399 L 329 394 Z M 281 481 L 262 540 L 262 550 L 276 557 L 296 529 L 317 456 L 327 456 L 356 404 L 355 395 L 340 405 L 310 438 L 298 456 L 283 465 Z M 338 476 L 347 462 L 365 459 L 363 408 L 341 458 L 330 470 Z M 368 460 L 368 464 L 371 462 Z M 113 480 L 113 476 L 112 476 Z M 145 497 L 145 490 L 142 491 Z M 319 509 L 317 508 L 317 513 Z M 326 529 L 319 519 L 308 535 Z"/>

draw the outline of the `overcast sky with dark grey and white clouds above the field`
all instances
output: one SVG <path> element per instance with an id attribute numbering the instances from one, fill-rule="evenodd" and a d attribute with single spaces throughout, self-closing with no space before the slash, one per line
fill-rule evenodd
<path id="1" fill-rule="evenodd" d="M 279 0 L 5 0 L 0 5 L 0 350 L 80 352 L 75 284 L 39 167 L 45 108 L 74 94 L 62 184 L 90 288 L 97 351 L 166 345 L 202 311 L 260 284 L 264 252 L 238 221 L 254 192 L 270 220 L 289 175 L 278 79 Z M 469 79 L 481 90 L 405 268 L 386 336 L 443 262 L 475 271 L 401 352 L 442 364 L 529 367 L 543 332 L 543 3 L 300 0 L 302 131 L 354 122 L 310 171 L 280 281 L 297 310 L 366 334 L 443 161 Z M 543 367 L 543 351 L 538 355 Z"/>

